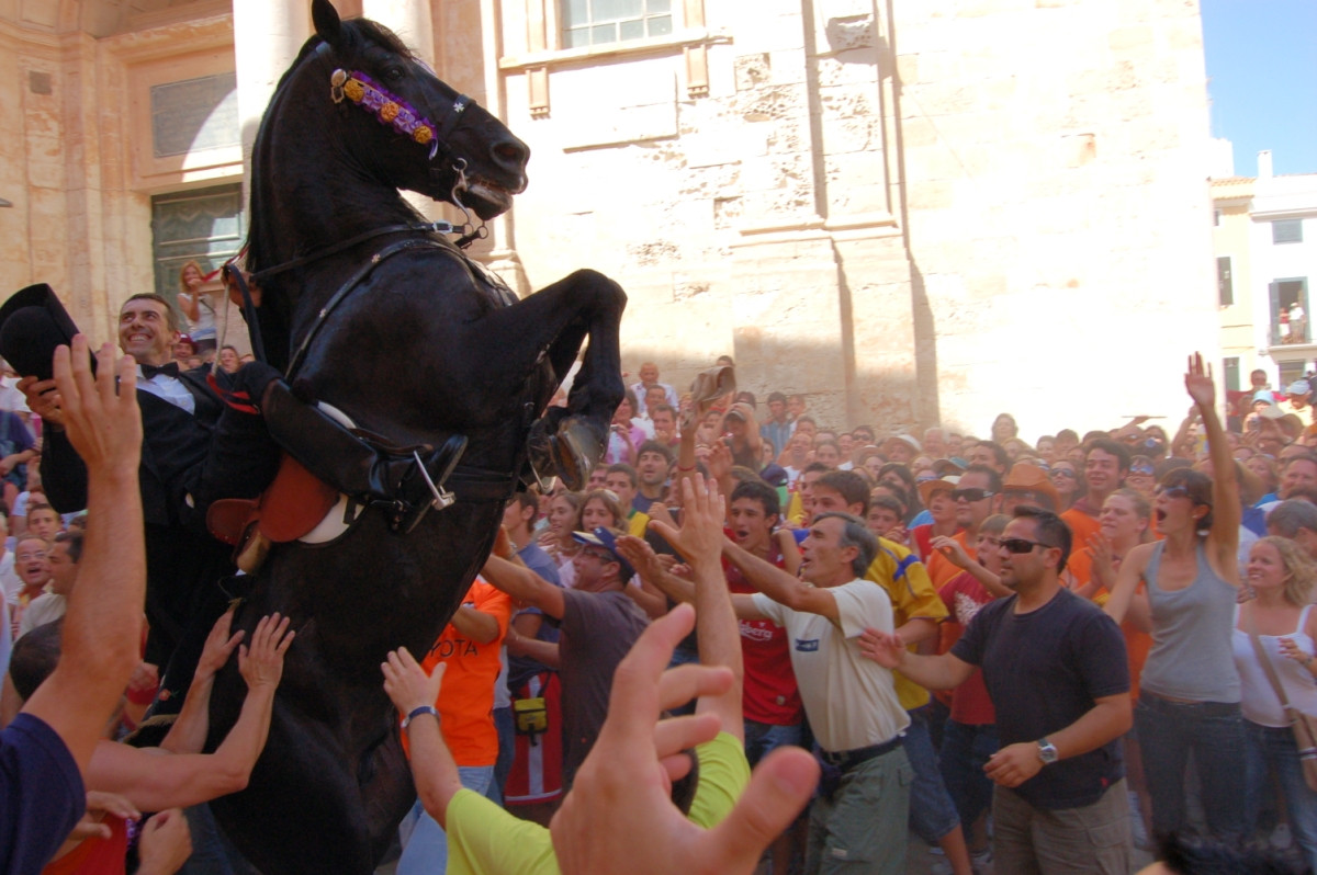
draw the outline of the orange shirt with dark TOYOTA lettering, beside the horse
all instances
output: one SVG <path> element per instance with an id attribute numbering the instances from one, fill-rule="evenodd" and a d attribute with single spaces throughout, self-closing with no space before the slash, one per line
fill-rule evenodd
<path id="1" fill-rule="evenodd" d="M 458 766 L 493 766 L 498 759 L 494 682 L 498 680 L 499 650 L 512 617 L 512 600 L 477 578 L 462 604 L 498 620 L 498 637 L 479 643 L 448 624 L 421 664 L 427 672 L 440 662 L 448 666 L 435 708 L 453 759 Z"/>

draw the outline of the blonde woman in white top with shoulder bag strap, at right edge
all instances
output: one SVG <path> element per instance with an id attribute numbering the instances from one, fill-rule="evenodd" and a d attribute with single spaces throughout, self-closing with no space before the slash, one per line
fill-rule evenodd
<path id="1" fill-rule="evenodd" d="M 1247 734 L 1245 811 L 1250 818 L 1256 817 L 1267 775 L 1275 774 L 1285 795 L 1289 830 L 1299 841 L 1306 864 L 1317 871 L 1317 792 L 1304 782 L 1295 733 L 1249 639 L 1252 626 L 1289 704 L 1317 714 L 1317 659 L 1313 658 L 1317 612 L 1308 603 L 1314 582 L 1317 564 L 1293 541 L 1271 537 L 1254 543 L 1249 554 L 1249 586 L 1258 595 L 1239 605 L 1233 649 Z"/>

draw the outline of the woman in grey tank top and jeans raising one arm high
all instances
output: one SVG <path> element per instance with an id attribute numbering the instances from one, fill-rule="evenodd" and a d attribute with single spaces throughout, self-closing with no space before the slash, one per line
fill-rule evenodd
<path id="1" fill-rule="evenodd" d="M 1242 508 L 1216 386 L 1201 355 L 1189 359 L 1184 386 L 1202 418 L 1216 476 L 1175 468 L 1162 478 L 1155 513 L 1164 539 L 1130 550 L 1105 609 L 1117 622 L 1129 612 L 1152 633 L 1134 725 L 1155 838 L 1187 825 L 1184 774 L 1192 751 L 1208 830 L 1217 841 L 1237 842 L 1245 780 L 1243 770 L 1229 764 L 1243 761 L 1245 732 L 1230 637 Z"/>

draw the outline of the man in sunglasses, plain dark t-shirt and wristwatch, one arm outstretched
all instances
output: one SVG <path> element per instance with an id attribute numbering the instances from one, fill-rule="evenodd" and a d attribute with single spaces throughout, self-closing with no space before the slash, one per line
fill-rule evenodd
<path id="1" fill-rule="evenodd" d="M 907 653 L 867 630 L 861 651 L 930 689 L 982 670 L 998 750 L 985 767 L 997 871 L 1127 872 L 1130 809 L 1119 738 L 1133 725 L 1121 630 L 1060 583 L 1071 533 L 1055 513 L 1019 507 L 1002 533 L 1009 599 L 985 605 L 950 653 Z"/>

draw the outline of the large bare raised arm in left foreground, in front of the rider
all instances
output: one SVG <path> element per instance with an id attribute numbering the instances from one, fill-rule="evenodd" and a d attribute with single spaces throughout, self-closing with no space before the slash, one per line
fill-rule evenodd
<path id="1" fill-rule="evenodd" d="M 108 343 L 96 363 L 92 376 L 80 334 L 71 355 L 66 346 L 55 350 L 65 434 L 86 462 L 91 522 L 78 587 L 68 596 L 59 664 L 22 709 L 59 734 L 83 775 L 137 667 L 146 589 L 136 363 L 130 357 L 116 363 Z"/>

